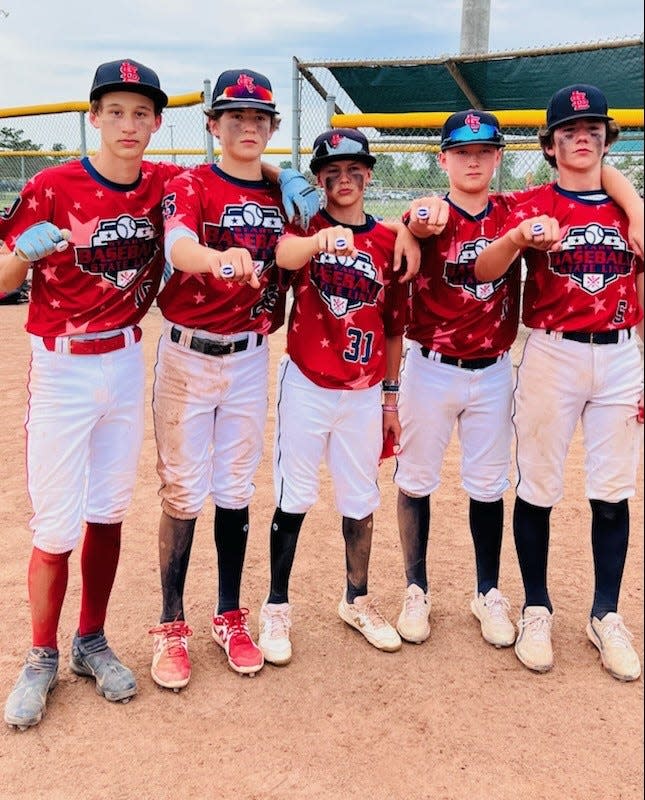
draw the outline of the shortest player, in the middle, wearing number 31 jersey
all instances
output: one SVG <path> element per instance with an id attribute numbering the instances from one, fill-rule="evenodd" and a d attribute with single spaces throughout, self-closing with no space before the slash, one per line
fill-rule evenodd
<path id="1" fill-rule="evenodd" d="M 385 435 L 392 431 L 398 442 L 400 433 L 391 395 L 385 397 L 392 405 L 381 408 L 381 383 L 387 391 L 398 376 L 408 295 L 394 269 L 393 230 L 364 211 L 374 163 L 360 131 L 318 136 L 310 167 L 324 190 L 325 210 L 313 218 L 311 235 L 289 229 L 276 250 L 278 265 L 298 272 L 278 375 L 271 586 L 260 609 L 259 645 L 273 664 L 291 660 L 289 576 L 305 514 L 318 496 L 323 459 L 346 548 L 347 585 L 338 613 L 374 647 L 401 647 L 367 593 L 379 453 Z"/>

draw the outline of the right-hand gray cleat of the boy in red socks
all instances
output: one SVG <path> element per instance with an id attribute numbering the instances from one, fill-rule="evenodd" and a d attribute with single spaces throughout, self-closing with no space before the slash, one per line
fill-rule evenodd
<path id="1" fill-rule="evenodd" d="M 94 678 L 96 691 L 106 700 L 127 703 L 137 693 L 134 675 L 108 647 L 103 630 L 87 636 L 74 634 L 69 667 L 77 675 Z"/>

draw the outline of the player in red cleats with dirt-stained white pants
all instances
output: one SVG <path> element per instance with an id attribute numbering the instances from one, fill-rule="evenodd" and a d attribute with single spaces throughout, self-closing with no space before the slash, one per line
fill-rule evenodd
<path id="1" fill-rule="evenodd" d="M 164 199 L 166 258 L 174 271 L 158 300 L 164 327 L 153 392 L 163 608 L 151 629 L 151 674 L 175 690 L 190 680 L 183 591 L 208 496 L 216 508 L 219 576 L 212 635 L 233 670 L 252 675 L 263 665 L 248 609 L 240 608 L 240 586 L 267 413 L 267 335 L 284 317 L 274 249 L 294 212 L 293 198 L 283 206 L 262 172 L 262 153 L 279 125 L 269 80 L 248 69 L 223 72 L 206 115 L 221 160 L 171 181 Z M 299 193 L 306 226 L 309 211 L 318 209 L 315 190 L 295 170 L 283 170 L 279 183 L 298 190 L 305 184 Z"/>

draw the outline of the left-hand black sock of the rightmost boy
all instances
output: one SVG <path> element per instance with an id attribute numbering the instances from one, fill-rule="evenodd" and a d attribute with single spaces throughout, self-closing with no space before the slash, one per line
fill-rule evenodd
<path id="1" fill-rule="evenodd" d="M 513 534 L 524 581 L 526 606 L 546 606 L 553 613 L 546 586 L 551 507 L 533 506 L 515 498 Z"/>

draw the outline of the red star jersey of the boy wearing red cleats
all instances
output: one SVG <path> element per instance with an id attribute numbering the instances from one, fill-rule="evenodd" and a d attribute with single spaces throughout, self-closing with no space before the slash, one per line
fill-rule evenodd
<path id="1" fill-rule="evenodd" d="M 275 246 L 285 219 L 278 186 L 232 178 L 206 164 L 168 184 L 164 217 L 166 233 L 188 228 L 214 250 L 246 248 L 260 279 L 254 289 L 210 273 L 175 270 L 158 300 L 166 319 L 221 334 L 266 334 L 282 324 L 286 291 Z"/>

